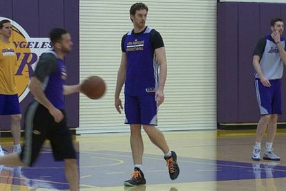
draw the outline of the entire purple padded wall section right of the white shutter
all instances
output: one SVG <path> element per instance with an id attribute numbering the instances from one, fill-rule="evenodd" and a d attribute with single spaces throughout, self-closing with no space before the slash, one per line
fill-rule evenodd
<path id="1" fill-rule="evenodd" d="M 271 33 L 270 20 L 286 19 L 285 8 L 285 3 L 218 3 L 218 123 L 258 122 L 252 53 L 258 39 Z M 283 82 L 285 98 L 285 74 Z"/>

